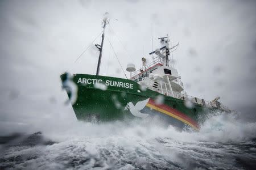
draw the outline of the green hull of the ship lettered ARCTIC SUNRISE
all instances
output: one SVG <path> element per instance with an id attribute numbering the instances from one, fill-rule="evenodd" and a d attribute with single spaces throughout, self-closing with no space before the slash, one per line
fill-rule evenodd
<path id="1" fill-rule="evenodd" d="M 61 80 L 65 81 L 65 74 Z M 72 106 L 78 120 L 109 122 L 158 116 L 180 129 L 188 126 L 199 129 L 199 117 L 204 114 L 202 105 L 187 108 L 184 100 L 143 89 L 129 79 L 76 74 L 73 82 L 77 86 L 77 100 Z M 70 99 L 72 94 L 67 92 Z M 157 102 L 159 97 L 164 99 L 162 103 Z M 141 109 L 138 102 L 146 105 Z"/>

